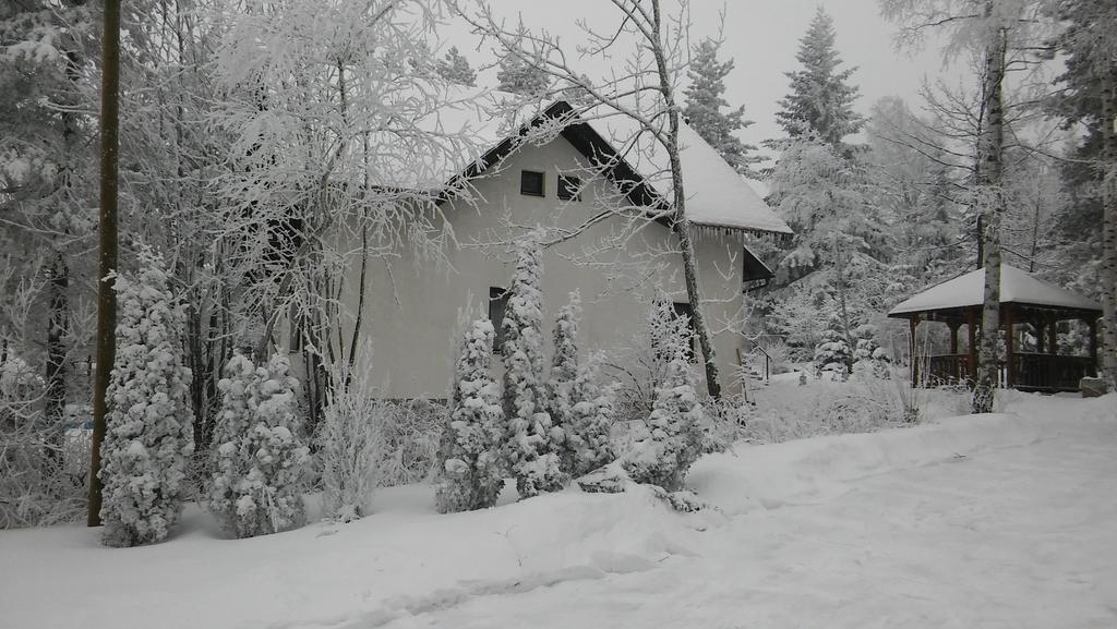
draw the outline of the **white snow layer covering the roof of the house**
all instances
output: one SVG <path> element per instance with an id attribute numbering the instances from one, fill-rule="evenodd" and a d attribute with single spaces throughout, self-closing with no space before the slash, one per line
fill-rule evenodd
<path id="1" fill-rule="evenodd" d="M 466 133 L 474 140 L 471 150 L 462 151 L 459 160 L 447 160 L 433 171 L 441 181 L 410 181 L 413 174 L 402 169 L 401 187 L 443 184 L 461 175 L 483 156 L 519 133 L 523 125 L 543 112 L 563 103 L 534 103 L 508 115 L 512 95 L 500 92 L 462 94 L 448 106 L 426 117 L 421 126 L 440 133 Z M 574 118 L 571 124 L 585 124 L 621 154 L 636 174 L 661 199 L 670 200 L 672 182 L 669 162 L 662 145 L 641 134 L 641 127 L 622 115 L 599 116 L 591 113 Z M 633 139 L 636 139 L 633 141 Z M 687 216 L 691 222 L 710 227 L 727 227 L 751 231 L 790 235 L 792 230 L 767 207 L 760 194 L 685 123 L 679 128 L 680 160 L 687 197 Z M 436 177 L 435 179 L 438 179 Z M 426 178 L 423 178 L 426 179 Z"/>

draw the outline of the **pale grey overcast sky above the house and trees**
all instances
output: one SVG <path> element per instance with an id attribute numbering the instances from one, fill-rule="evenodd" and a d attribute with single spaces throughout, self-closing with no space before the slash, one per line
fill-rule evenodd
<path id="1" fill-rule="evenodd" d="M 574 22 L 579 17 L 600 16 L 601 27 L 615 23 L 618 19 L 617 9 L 605 0 L 493 0 L 493 3 L 509 20 L 515 20 L 519 13 L 529 28 L 547 28 L 566 41 L 577 38 Z M 694 41 L 715 36 L 719 13 L 725 11 L 722 57 L 736 60 L 736 68 L 726 79 L 726 99 L 733 105 L 744 105 L 746 117 L 755 121 L 741 133 L 750 144 L 758 145 L 763 140 L 782 135 L 775 112 L 777 102 L 787 93 L 784 73 L 799 67 L 795 60 L 799 39 L 820 4 L 834 19 L 843 67 L 858 68 L 851 83 L 861 88 L 861 97 L 855 105 L 861 114 L 868 115 L 872 103 L 891 95 L 903 97 L 915 108 L 924 77 L 934 80 L 942 75 L 942 58 L 933 44 L 914 55 L 895 49 L 896 27 L 880 17 L 877 0 L 737 0 L 725 3 L 694 0 L 690 3 Z M 451 30 L 449 37 L 474 65 L 487 60 L 487 50 L 472 50 L 476 41 L 469 42 L 467 31 Z M 585 72 L 591 77 L 596 74 L 591 67 Z"/>

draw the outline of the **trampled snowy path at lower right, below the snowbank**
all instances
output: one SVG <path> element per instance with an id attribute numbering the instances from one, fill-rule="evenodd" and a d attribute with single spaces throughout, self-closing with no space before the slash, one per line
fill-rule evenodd
<path id="1" fill-rule="evenodd" d="M 849 488 L 732 517 L 699 556 L 386 627 L 1117 627 L 1117 423 Z"/>

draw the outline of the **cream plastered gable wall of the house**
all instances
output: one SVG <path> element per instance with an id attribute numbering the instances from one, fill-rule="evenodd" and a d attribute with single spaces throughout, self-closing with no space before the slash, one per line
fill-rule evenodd
<path id="1" fill-rule="evenodd" d="M 499 173 L 476 181 L 474 202 L 443 206 L 457 240 L 446 251 L 448 264 L 417 259 L 407 247 L 399 249 L 398 257 L 371 260 L 362 336 L 371 339 L 373 355 L 362 362 L 362 369 L 371 370 L 372 381 L 381 383 L 385 397 L 447 395 L 459 322 L 485 316 L 489 288 L 510 284 L 514 256 L 507 242 L 525 232 L 523 226 L 580 225 L 601 210 L 599 201 L 615 194 L 610 182 L 598 180 L 586 183 L 581 201 L 560 201 L 558 173 L 571 173 L 583 163 L 581 153 L 562 137 L 524 146 L 503 162 Z M 522 170 L 545 173 L 544 197 L 521 194 Z M 674 248 L 676 240 L 660 223 L 649 222 L 623 250 L 611 248 L 593 256 L 595 260 L 586 256 L 619 225 L 619 218 L 611 218 L 546 250 L 543 311 L 548 344 L 554 315 L 575 288 L 581 290 L 583 305 L 582 352 L 623 352 L 642 331 L 657 295 L 687 301 L 678 254 L 659 254 Z M 717 331 L 717 359 L 723 385 L 728 387 L 733 387 L 729 381 L 739 346 L 743 242 L 739 232 L 696 230 L 699 280 L 704 298 L 710 299 L 705 313 Z M 343 302 L 352 317 L 360 288 L 355 266 L 345 282 Z"/>

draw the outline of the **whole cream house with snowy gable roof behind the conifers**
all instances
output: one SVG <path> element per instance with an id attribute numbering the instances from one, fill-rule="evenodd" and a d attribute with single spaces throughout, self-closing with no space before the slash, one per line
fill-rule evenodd
<path id="1" fill-rule="evenodd" d="M 389 398 L 441 398 L 452 374 L 452 347 L 465 318 L 500 317 L 513 266 L 510 245 L 542 226 L 544 334 L 556 311 L 581 292 L 582 351 L 620 351 L 641 332 L 655 298 L 689 308 L 669 211 L 665 155 L 617 139 L 633 137 L 623 121 L 588 120 L 557 101 L 507 126 L 481 108 L 443 112 L 438 124 L 468 124 L 483 152 L 447 171 L 455 190 L 432 221 L 449 235 L 436 264 L 401 247 L 364 275 L 361 335 L 373 355 L 363 368 Z M 488 135 L 486 135 L 488 134 Z M 680 131 L 681 159 L 699 263 L 705 314 L 715 331 L 720 372 L 731 387 L 741 342 L 743 290 L 771 276 L 746 240 L 782 238 L 791 229 L 693 130 Z M 354 315 L 359 273 L 344 278 L 344 307 Z M 550 343 L 548 343 L 550 344 Z"/>

